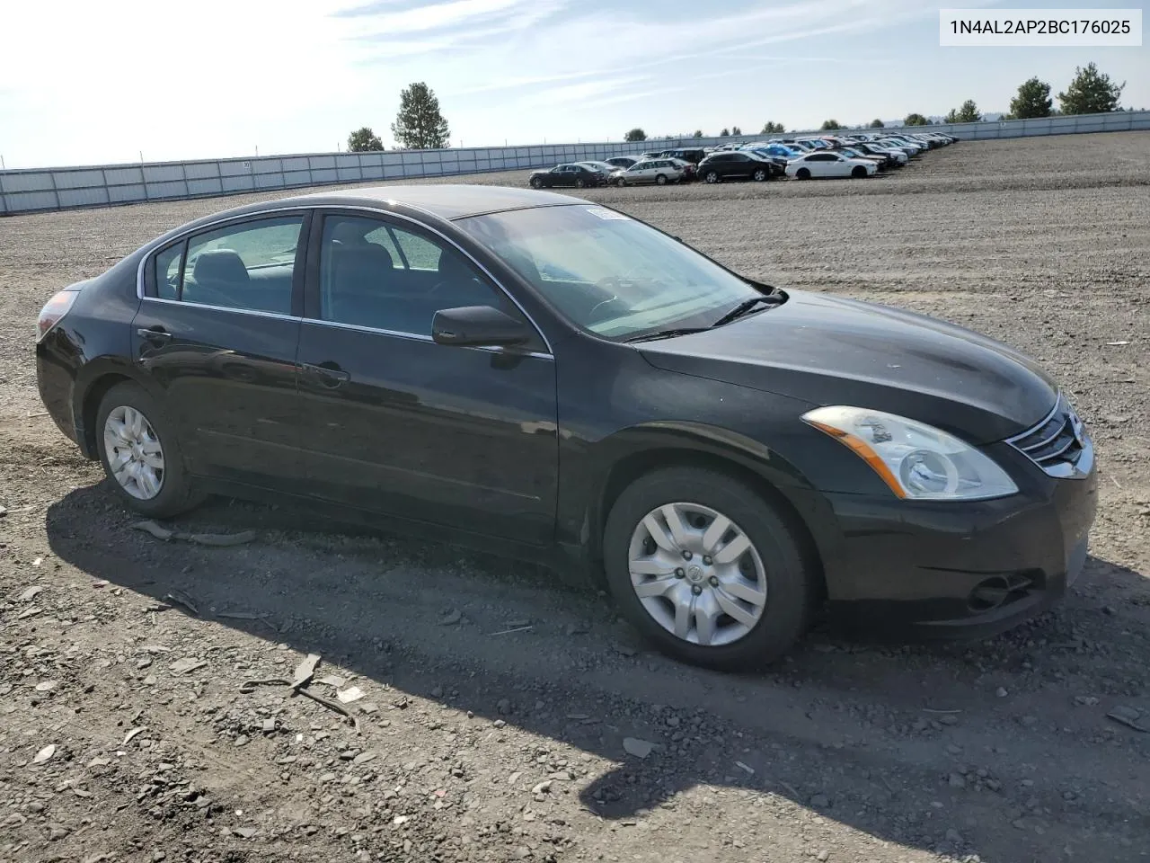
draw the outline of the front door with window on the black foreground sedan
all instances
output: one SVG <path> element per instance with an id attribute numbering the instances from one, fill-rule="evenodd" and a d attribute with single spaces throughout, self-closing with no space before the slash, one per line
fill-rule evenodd
<path id="1" fill-rule="evenodd" d="M 439 308 L 521 312 L 454 245 L 398 217 L 329 213 L 312 243 L 299 346 L 309 486 L 405 519 L 549 542 L 558 417 L 544 342 L 431 341 Z"/>

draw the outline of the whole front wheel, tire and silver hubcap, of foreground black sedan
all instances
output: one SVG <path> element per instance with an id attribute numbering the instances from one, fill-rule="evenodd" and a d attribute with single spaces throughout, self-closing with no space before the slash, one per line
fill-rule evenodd
<path id="1" fill-rule="evenodd" d="M 813 567 L 776 506 L 724 473 L 670 467 L 623 490 L 603 536 L 607 585 L 664 652 L 735 670 L 782 656 L 805 631 Z"/>

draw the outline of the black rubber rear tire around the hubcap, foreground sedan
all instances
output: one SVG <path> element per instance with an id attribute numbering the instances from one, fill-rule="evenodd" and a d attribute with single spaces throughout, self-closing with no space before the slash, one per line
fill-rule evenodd
<path id="1" fill-rule="evenodd" d="M 121 484 L 109 464 L 109 442 L 106 440 L 108 437 L 106 434 L 108 418 L 114 412 L 125 410 L 136 411 L 144 418 L 160 448 L 163 464 L 160 474 L 160 490 L 146 499 L 131 494 Z M 171 518 L 187 512 L 204 499 L 192 487 L 175 425 L 168 418 L 162 405 L 139 384 L 117 383 L 105 394 L 100 402 L 100 408 L 97 411 L 95 440 L 103 472 L 121 502 L 129 509 L 151 518 Z"/>

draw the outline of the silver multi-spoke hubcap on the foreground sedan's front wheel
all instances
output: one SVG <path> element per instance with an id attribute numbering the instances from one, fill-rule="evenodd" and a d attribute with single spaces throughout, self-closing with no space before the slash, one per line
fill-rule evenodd
<path id="1" fill-rule="evenodd" d="M 767 574 L 750 537 L 718 510 L 670 503 L 636 526 L 631 587 L 664 629 L 692 644 L 730 644 L 767 605 Z"/>

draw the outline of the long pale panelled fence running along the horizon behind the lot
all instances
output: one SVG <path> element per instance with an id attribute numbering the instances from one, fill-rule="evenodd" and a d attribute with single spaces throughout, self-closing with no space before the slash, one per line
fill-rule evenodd
<path id="1" fill-rule="evenodd" d="M 1021 138 L 1035 135 L 1150 130 L 1150 110 L 1084 114 L 1044 120 L 931 125 L 966 139 Z M 888 128 L 887 131 L 902 131 Z M 908 131 L 923 131 L 912 127 Z M 791 132 L 802 135 L 810 132 Z M 99 207 L 152 200 L 206 198 L 240 192 L 301 189 L 332 183 L 362 183 L 405 177 L 436 177 L 542 168 L 558 162 L 608 159 L 676 146 L 712 146 L 768 136 L 734 138 L 658 138 L 637 144 L 550 144 L 467 150 L 322 153 L 194 162 L 144 162 L 90 168 L 0 171 L 0 215 L 72 207 Z M 780 136 L 769 136 L 780 137 Z"/>

